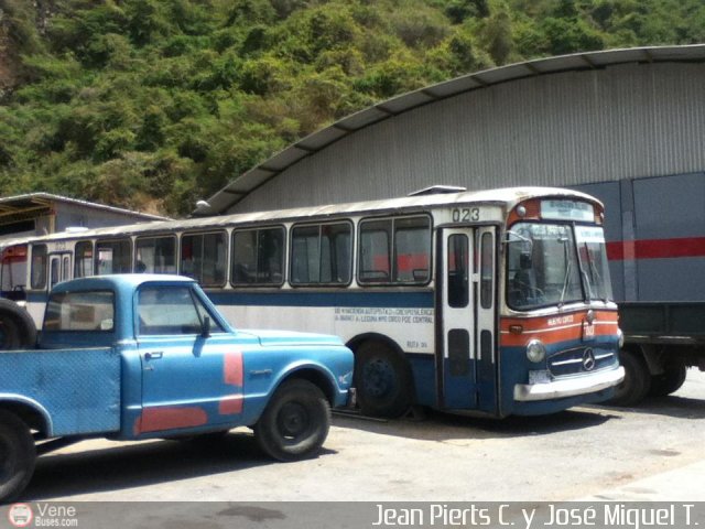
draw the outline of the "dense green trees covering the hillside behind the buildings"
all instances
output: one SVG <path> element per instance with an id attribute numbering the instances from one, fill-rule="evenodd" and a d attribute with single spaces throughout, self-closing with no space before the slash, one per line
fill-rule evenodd
<path id="1" fill-rule="evenodd" d="M 524 58 L 704 40 L 703 0 L 0 0 L 0 194 L 188 213 L 376 101 Z M 4 50 L 3 50 L 4 47 Z"/>

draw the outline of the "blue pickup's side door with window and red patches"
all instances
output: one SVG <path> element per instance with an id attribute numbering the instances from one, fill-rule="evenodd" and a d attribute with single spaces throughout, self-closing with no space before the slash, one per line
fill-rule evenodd
<path id="1" fill-rule="evenodd" d="M 188 285 L 149 285 L 135 310 L 142 365 L 138 434 L 237 424 L 242 413 L 242 354 Z M 229 339 L 228 339 L 229 338 Z"/>

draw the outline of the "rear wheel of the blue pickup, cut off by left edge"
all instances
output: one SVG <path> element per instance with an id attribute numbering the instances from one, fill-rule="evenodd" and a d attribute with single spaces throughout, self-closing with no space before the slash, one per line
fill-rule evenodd
<path id="1" fill-rule="evenodd" d="M 0 410 L 0 501 L 15 498 L 34 473 L 36 451 L 28 425 Z"/>

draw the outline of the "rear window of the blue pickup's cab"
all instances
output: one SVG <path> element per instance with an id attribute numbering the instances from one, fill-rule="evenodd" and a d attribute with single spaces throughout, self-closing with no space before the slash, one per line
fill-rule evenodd
<path id="1" fill-rule="evenodd" d="M 46 305 L 45 331 L 97 331 L 115 328 L 115 293 L 111 291 L 59 292 Z"/>

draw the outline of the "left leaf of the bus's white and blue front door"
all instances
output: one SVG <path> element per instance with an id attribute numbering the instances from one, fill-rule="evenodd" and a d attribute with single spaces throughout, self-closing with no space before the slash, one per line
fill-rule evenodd
<path id="1" fill-rule="evenodd" d="M 473 247 L 474 230 L 452 228 L 441 231 L 438 276 L 438 344 L 436 373 L 441 408 L 477 407 L 476 355 L 473 346 Z"/>

